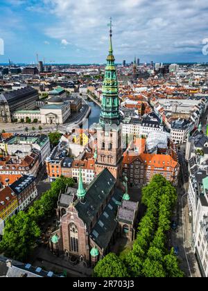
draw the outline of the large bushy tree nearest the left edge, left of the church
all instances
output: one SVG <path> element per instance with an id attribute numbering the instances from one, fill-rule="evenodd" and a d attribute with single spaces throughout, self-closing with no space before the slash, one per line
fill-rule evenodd
<path id="1" fill-rule="evenodd" d="M 21 211 L 6 222 L 0 250 L 9 258 L 24 261 L 40 237 L 40 228 L 30 216 Z"/>

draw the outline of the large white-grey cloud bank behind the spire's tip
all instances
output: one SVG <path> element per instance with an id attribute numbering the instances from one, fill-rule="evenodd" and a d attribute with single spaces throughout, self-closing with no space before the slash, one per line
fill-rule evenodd
<path id="1" fill-rule="evenodd" d="M 208 33 L 208 3 L 202 0 L 47 0 L 55 25 L 44 33 L 71 37 L 85 51 L 107 49 L 107 22 L 113 18 L 114 51 L 121 55 L 162 55 L 200 51 Z M 203 19 L 203 21 L 202 21 Z M 191 25 L 190 25 L 191 24 Z M 105 48 L 101 48 L 101 44 Z"/>

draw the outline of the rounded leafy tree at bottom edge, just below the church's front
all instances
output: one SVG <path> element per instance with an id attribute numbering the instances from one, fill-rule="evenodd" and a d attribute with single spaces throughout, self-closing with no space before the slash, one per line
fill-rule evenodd
<path id="1" fill-rule="evenodd" d="M 116 254 L 107 254 L 94 268 L 94 277 L 122 278 L 127 277 L 128 270 Z"/>

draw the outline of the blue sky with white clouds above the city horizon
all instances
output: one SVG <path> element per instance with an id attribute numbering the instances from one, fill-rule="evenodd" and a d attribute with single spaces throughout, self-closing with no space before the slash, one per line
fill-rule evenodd
<path id="1" fill-rule="evenodd" d="M 1 0 L 0 63 L 208 62 L 205 0 Z M 2 39 L 4 55 L 2 55 Z"/>

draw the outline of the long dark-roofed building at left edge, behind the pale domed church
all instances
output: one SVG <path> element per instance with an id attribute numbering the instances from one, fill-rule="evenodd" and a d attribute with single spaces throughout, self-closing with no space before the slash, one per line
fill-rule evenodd
<path id="1" fill-rule="evenodd" d="M 12 121 L 12 114 L 16 111 L 35 109 L 38 98 L 38 91 L 32 87 L 1 93 L 0 123 L 10 123 Z"/>

